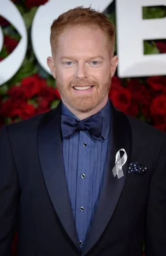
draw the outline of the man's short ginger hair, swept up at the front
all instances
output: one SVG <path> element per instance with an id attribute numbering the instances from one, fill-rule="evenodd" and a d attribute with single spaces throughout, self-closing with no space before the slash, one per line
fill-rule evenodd
<path id="1" fill-rule="evenodd" d="M 72 26 L 95 26 L 103 32 L 106 36 L 106 47 L 113 57 L 114 43 L 115 43 L 115 26 L 108 20 L 106 15 L 98 12 L 91 7 L 84 8 L 78 6 L 62 13 L 55 19 L 51 26 L 50 44 L 52 49 L 52 56 L 54 57 L 58 47 L 58 39 L 63 33 L 64 29 Z"/>

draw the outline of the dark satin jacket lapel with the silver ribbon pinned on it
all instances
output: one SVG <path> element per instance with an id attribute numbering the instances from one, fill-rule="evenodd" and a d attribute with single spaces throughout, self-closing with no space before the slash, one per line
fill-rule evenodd
<path id="1" fill-rule="evenodd" d="M 92 222 L 92 227 L 86 240 L 85 247 L 83 248 L 82 256 L 94 246 L 110 221 L 126 182 L 126 176 L 129 169 L 132 145 L 131 127 L 127 117 L 122 112 L 115 109 L 112 103 L 111 109 L 111 136 L 108 151 L 107 172 L 103 190 Z M 115 166 L 116 153 L 121 148 L 124 148 L 127 153 L 127 162 L 123 166 L 124 177 L 118 179 L 117 175 L 115 177 L 113 176 L 112 169 Z"/>

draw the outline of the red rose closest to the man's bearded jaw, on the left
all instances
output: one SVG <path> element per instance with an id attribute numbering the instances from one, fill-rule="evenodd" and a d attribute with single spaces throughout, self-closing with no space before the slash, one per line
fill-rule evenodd
<path id="1" fill-rule="evenodd" d="M 47 86 L 46 81 L 41 81 L 41 90 L 38 93 L 38 96 L 41 98 L 46 99 L 47 101 L 53 101 L 54 99 L 60 99 L 59 92 L 57 89 L 54 89 L 53 87 Z"/>

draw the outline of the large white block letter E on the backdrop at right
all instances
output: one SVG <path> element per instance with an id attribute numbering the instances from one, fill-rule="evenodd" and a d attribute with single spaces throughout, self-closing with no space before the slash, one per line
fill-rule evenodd
<path id="1" fill-rule="evenodd" d="M 143 6 L 166 0 L 116 0 L 118 76 L 166 75 L 166 53 L 143 54 L 143 41 L 166 39 L 166 18 L 143 20 Z"/>

